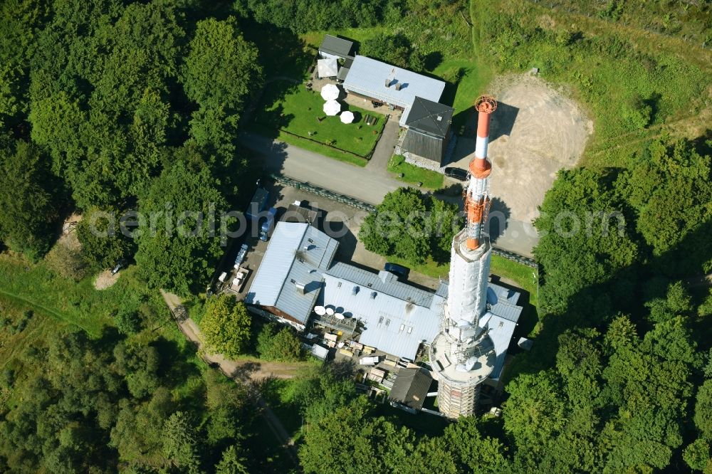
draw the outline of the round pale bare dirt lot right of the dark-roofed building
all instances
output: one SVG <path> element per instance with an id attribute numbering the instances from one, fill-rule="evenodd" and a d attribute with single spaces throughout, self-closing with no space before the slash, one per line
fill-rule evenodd
<path id="1" fill-rule="evenodd" d="M 501 199 L 509 217 L 529 222 L 556 173 L 571 168 L 583 154 L 593 122 L 565 90 L 532 75 L 496 78 L 488 93 L 498 101 L 491 118 L 489 159 L 491 194 Z M 458 138 L 456 166 L 473 158 L 476 117 Z"/>

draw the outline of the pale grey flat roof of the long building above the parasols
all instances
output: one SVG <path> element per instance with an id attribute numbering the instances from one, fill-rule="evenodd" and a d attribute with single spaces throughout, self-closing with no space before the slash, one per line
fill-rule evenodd
<path id="1" fill-rule="evenodd" d="M 386 80 L 391 79 L 386 87 Z M 402 85 L 396 90 L 396 84 Z M 433 79 L 413 71 L 382 63 L 379 60 L 356 56 L 344 81 L 344 89 L 350 93 L 397 105 L 407 109 L 413 100 L 422 97 L 437 102 L 445 88 L 442 80 Z"/>

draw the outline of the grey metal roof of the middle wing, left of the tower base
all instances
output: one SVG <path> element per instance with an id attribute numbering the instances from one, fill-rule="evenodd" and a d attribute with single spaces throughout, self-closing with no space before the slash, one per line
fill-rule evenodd
<path id="1" fill-rule="evenodd" d="M 375 274 L 335 263 L 324 274 L 318 301 L 360 320 L 364 325 L 359 338 L 362 344 L 414 359 L 419 345 L 436 336 L 445 300 L 401 283 L 391 273 Z"/>

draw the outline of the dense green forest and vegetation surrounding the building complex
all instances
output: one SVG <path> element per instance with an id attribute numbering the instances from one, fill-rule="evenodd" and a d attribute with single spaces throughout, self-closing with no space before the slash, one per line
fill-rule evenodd
<path id="1" fill-rule="evenodd" d="M 645 4 L 4 1 L 0 470 L 712 473 L 712 16 L 706 2 Z M 508 367 L 501 417 L 424 426 L 357 396 L 353 367 L 305 362 L 273 400 L 298 419 L 286 451 L 255 392 L 200 359 L 158 293 L 195 302 L 226 352 L 304 358 L 289 331 L 246 330 L 235 302 L 202 302 L 224 248 L 169 233 L 166 211 L 248 201 L 244 117 L 323 31 L 441 75 L 458 112 L 491 75 L 536 64 L 594 117 L 583 166 L 557 175 L 535 221 L 542 329 Z M 396 191 L 377 213 L 456 217 L 438 203 Z M 159 231 L 88 228 L 131 210 L 162 216 Z M 57 243 L 73 213 L 80 253 Z M 414 263 L 449 245 L 360 238 Z M 88 275 L 122 259 L 117 285 L 95 291 Z"/>

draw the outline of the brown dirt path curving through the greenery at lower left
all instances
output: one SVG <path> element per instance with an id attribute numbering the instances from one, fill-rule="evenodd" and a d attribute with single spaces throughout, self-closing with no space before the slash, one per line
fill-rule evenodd
<path id="1" fill-rule="evenodd" d="M 261 362 L 257 359 L 234 361 L 226 359 L 221 354 L 208 354 L 205 350 L 203 335 L 200 328 L 195 322 L 190 319 L 187 311 L 181 304 L 181 300 L 177 295 L 166 293 L 161 290 L 161 295 L 169 307 L 169 310 L 176 316 L 179 327 L 183 330 L 183 334 L 194 344 L 197 345 L 199 352 L 202 352 L 206 362 L 210 364 L 218 364 L 222 372 L 233 379 L 237 384 L 248 384 L 251 381 L 260 381 L 267 377 L 278 377 L 280 379 L 289 379 L 295 376 L 301 369 L 303 364 L 289 364 L 281 362 Z M 266 404 L 260 394 L 257 394 L 257 406 L 261 409 L 261 415 L 267 422 L 274 436 L 286 448 L 286 453 L 298 464 L 299 460 L 294 448 L 294 441 L 289 436 L 289 433 L 284 428 L 282 422 Z"/>

